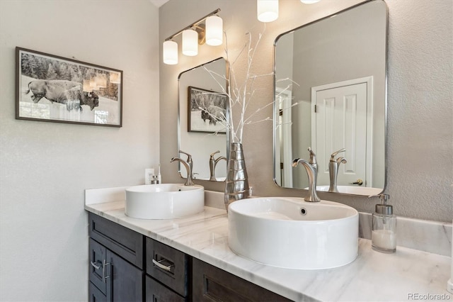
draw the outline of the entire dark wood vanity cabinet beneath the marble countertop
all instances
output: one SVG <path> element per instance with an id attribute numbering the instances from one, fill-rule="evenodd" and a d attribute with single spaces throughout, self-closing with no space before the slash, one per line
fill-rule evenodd
<path id="1" fill-rule="evenodd" d="M 89 213 L 88 301 L 289 301 Z"/>

